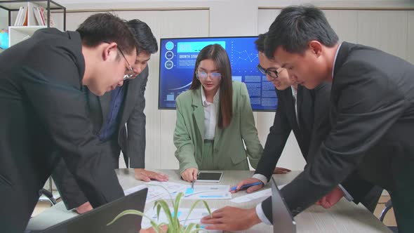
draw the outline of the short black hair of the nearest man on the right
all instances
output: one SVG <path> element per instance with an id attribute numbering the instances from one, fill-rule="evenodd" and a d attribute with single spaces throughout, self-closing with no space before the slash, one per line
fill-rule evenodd
<path id="1" fill-rule="evenodd" d="M 338 35 L 318 8 L 288 6 L 283 8 L 269 27 L 265 39 L 265 54 L 268 58 L 273 58 L 274 51 L 279 46 L 289 53 L 302 54 L 312 40 L 333 47 L 338 43 Z"/>

